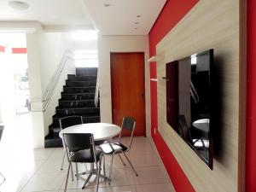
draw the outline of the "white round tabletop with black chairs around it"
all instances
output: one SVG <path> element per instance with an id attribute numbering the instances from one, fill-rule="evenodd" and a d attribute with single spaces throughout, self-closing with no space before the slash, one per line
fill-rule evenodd
<path id="1" fill-rule="evenodd" d="M 119 125 L 108 123 L 89 123 L 83 125 L 69 126 L 59 132 L 62 138 L 63 133 L 92 133 L 94 141 L 108 140 L 119 135 L 121 128 Z"/>

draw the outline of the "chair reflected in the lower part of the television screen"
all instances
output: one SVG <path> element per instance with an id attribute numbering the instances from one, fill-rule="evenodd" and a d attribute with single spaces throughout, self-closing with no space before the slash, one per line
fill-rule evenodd
<path id="1" fill-rule="evenodd" d="M 179 121 L 180 135 L 181 137 L 183 137 L 183 140 L 186 143 L 189 143 L 189 146 L 191 148 L 195 148 L 195 149 L 209 148 L 208 140 L 205 140 L 202 138 L 195 138 L 195 139 L 192 138 L 191 133 L 189 131 L 189 127 L 187 125 L 186 118 L 183 114 L 178 116 L 178 121 Z"/>

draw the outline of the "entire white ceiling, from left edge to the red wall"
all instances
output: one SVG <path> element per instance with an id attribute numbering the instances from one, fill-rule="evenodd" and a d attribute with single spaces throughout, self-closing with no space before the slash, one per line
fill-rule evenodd
<path id="1" fill-rule="evenodd" d="M 20 0 L 27 10 L 0 0 L 1 21 L 38 21 L 45 29 L 81 29 L 96 26 L 103 35 L 146 35 L 166 0 Z M 105 7 L 105 4 L 110 6 Z M 141 15 L 137 18 L 137 15 Z M 135 24 L 138 22 L 138 24 Z M 137 27 L 137 29 L 135 29 Z"/>

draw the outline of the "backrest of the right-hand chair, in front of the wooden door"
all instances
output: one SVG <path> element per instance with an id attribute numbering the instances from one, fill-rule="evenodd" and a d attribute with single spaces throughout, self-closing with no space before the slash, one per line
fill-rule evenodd
<path id="1" fill-rule="evenodd" d="M 122 125 L 121 125 L 121 131 L 120 131 L 120 134 L 119 134 L 119 142 L 120 142 L 120 139 L 122 137 L 123 131 L 124 130 L 130 131 L 131 135 L 130 135 L 130 143 L 129 143 L 128 148 L 131 148 L 131 143 L 132 143 L 133 133 L 134 133 L 134 130 L 135 130 L 135 125 L 136 125 L 136 120 L 134 118 L 132 118 L 132 117 L 124 117 L 123 118 Z"/>

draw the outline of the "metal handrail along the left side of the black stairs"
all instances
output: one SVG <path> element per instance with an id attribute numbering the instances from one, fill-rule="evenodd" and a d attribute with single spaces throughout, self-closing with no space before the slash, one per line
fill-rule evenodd
<path id="1" fill-rule="evenodd" d="M 45 112 L 46 109 L 49 106 L 49 102 L 51 101 L 51 98 L 53 96 L 54 90 L 55 90 L 55 86 L 56 84 L 59 82 L 59 79 L 61 77 L 61 73 L 64 69 L 64 67 L 66 66 L 67 60 L 68 59 L 73 59 L 73 52 L 70 49 L 66 49 L 64 54 L 61 57 L 61 61 L 58 65 L 58 67 L 55 70 L 55 73 L 53 74 L 53 76 L 51 77 L 49 84 L 47 86 L 47 89 L 44 91 L 44 99 L 42 100 L 32 100 L 28 103 L 28 110 L 30 112 Z M 45 106 L 43 107 L 43 110 L 32 110 L 31 108 L 31 103 L 32 102 L 46 102 Z"/>

